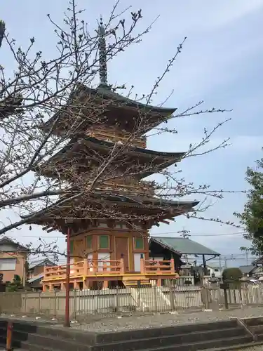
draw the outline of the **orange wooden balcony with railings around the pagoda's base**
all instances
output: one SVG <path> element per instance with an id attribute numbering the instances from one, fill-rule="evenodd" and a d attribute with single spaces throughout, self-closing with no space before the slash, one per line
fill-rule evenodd
<path id="1" fill-rule="evenodd" d="M 52 290 L 54 286 L 65 289 L 67 265 L 45 267 L 43 277 L 43 291 Z M 74 289 L 79 289 L 79 283 L 83 283 L 83 289 L 88 289 L 89 283 L 93 281 L 105 282 L 107 287 L 109 281 L 121 280 L 123 282 L 138 280 L 175 279 L 175 264 L 173 260 L 144 260 L 140 261 L 140 272 L 126 272 L 124 270 L 123 258 L 120 260 L 82 260 L 70 264 L 70 283 Z"/>

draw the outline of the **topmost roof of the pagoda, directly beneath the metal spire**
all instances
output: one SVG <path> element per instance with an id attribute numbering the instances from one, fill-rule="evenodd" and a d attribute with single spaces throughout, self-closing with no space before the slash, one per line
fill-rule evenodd
<path id="1" fill-rule="evenodd" d="M 137 118 L 145 117 L 142 134 L 150 131 L 152 128 L 166 121 L 177 110 L 175 107 L 158 107 L 144 104 L 139 101 L 126 98 L 119 93 L 113 91 L 109 86 L 100 85 L 97 88 L 89 88 L 83 84 L 78 84 L 74 92 L 69 96 L 67 105 L 62 107 L 60 111 L 55 113 L 42 128 L 50 129 L 54 123 L 58 128 L 67 129 L 72 124 L 69 124 L 68 119 L 76 118 L 79 111 L 85 110 L 85 117 L 81 128 L 86 129 L 94 124 L 95 117 L 102 116 L 104 123 L 107 125 L 116 125 L 116 120 L 119 124 L 126 126 L 127 130 L 133 130 Z M 100 112 L 98 112 L 100 111 Z M 108 117 L 108 112 L 114 112 L 112 117 Z M 57 120 L 57 121 L 56 121 Z M 56 121 L 56 122 L 55 122 Z M 70 128 L 70 127 L 69 127 Z M 56 133 L 56 128 L 54 133 Z"/>

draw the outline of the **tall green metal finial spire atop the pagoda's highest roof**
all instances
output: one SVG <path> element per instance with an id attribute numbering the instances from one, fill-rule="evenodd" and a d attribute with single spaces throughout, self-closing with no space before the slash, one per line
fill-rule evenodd
<path id="1" fill-rule="evenodd" d="M 104 37 L 105 27 L 102 22 L 102 17 L 100 17 L 100 25 L 98 30 L 99 35 L 99 60 L 100 60 L 100 86 L 108 86 L 107 81 L 107 49 L 106 40 Z"/>

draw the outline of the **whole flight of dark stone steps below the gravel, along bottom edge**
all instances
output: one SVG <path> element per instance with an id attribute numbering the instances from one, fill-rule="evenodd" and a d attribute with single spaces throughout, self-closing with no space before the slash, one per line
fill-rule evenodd
<path id="1" fill-rule="evenodd" d="M 0 343 L 4 345 L 6 323 L 0 325 Z M 14 346 L 29 351 L 195 351 L 252 341 L 236 320 L 109 333 L 77 331 L 21 320 L 14 321 L 13 325 Z"/>

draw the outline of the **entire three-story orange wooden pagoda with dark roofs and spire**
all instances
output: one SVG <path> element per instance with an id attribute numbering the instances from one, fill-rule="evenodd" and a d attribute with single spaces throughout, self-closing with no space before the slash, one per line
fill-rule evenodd
<path id="1" fill-rule="evenodd" d="M 149 260 L 149 229 L 193 211 L 198 204 L 161 200 L 143 181 L 184 156 L 183 152 L 147 150 L 144 137 L 176 109 L 143 105 L 114 92 L 107 84 L 102 25 L 100 33 L 100 85 L 95 89 L 76 86 L 67 106 L 43 126 L 46 131 L 52 126 L 54 134 L 62 135 L 76 124 L 69 143 L 37 170 L 43 176 L 64 179 L 72 194 L 36 213 L 30 223 L 63 234 L 70 227 L 74 289 L 95 287 L 97 282 L 103 282 L 104 288 L 137 281 L 161 285 L 162 279 L 177 277 L 177 263 Z M 78 192 L 81 180 L 90 186 L 85 196 Z M 65 270 L 62 265 L 46 267 L 43 290 L 65 289 Z"/>

